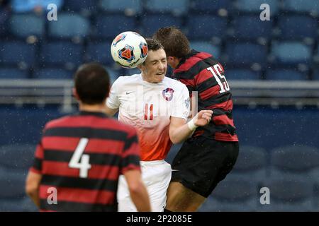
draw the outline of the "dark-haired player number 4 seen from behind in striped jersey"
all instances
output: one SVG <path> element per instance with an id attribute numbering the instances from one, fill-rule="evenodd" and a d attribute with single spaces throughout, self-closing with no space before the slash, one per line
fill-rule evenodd
<path id="1" fill-rule="evenodd" d="M 103 113 L 110 89 L 107 71 L 84 64 L 74 83 L 80 112 L 45 125 L 26 193 L 43 211 L 116 211 L 118 177 L 124 174 L 136 208 L 150 211 L 136 131 Z M 57 202 L 49 204 L 52 189 Z"/>

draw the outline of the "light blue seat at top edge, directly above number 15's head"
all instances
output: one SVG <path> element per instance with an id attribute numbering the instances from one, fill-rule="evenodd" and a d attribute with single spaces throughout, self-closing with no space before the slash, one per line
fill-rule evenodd
<path id="1" fill-rule="evenodd" d="M 189 10 L 189 0 L 148 0 L 145 9 L 150 13 L 174 13 L 180 15 Z"/>

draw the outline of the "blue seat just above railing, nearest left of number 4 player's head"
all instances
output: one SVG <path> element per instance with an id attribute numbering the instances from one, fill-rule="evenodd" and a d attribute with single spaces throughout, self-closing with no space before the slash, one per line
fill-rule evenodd
<path id="1" fill-rule="evenodd" d="M 72 79 L 72 71 L 58 68 L 36 69 L 33 78 L 37 79 Z"/>

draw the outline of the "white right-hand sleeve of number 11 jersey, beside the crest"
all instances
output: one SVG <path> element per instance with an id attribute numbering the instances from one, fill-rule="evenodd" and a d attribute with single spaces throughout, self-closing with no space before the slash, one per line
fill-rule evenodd
<path id="1" fill-rule="evenodd" d="M 182 86 L 181 92 L 174 100 L 171 116 L 187 120 L 190 110 L 189 90 L 186 88 L 186 85 L 182 84 Z"/>

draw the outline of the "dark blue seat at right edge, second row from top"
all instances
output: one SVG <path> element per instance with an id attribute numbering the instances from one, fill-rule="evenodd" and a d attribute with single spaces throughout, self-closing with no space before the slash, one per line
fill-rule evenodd
<path id="1" fill-rule="evenodd" d="M 279 38 L 284 40 L 298 40 L 306 37 L 318 37 L 317 19 L 310 16 L 280 16 L 278 21 L 281 30 Z M 303 26 L 301 26 L 301 24 Z"/>

